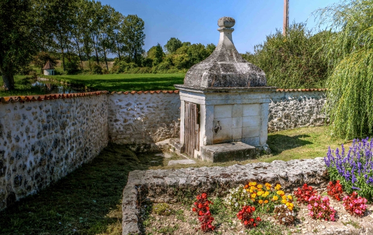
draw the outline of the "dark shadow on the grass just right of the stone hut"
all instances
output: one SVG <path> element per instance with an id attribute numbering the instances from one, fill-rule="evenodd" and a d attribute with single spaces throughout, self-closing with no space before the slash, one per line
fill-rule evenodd
<path id="1" fill-rule="evenodd" d="M 311 141 L 301 138 L 310 137 L 309 135 L 285 136 L 275 134 L 268 136 L 267 144 L 272 150 L 273 155 L 280 154 L 282 151 L 313 144 Z"/>

